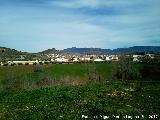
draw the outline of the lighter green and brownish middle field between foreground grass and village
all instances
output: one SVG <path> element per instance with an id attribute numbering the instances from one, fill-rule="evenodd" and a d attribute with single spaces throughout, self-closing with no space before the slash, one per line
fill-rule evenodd
<path id="1" fill-rule="evenodd" d="M 101 79 L 111 77 L 111 64 L 54 64 L 44 65 L 42 71 L 34 72 L 35 66 L 0 67 L 0 88 L 7 90 L 30 89 L 43 86 L 77 85 L 87 82 L 87 68 L 95 66 Z M 40 67 L 40 68 L 41 68 Z M 92 75 L 92 72 L 90 73 Z M 47 83 L 48 82 L 48 83 Z M 39 84 L 41 83 L 41 84 Z M 49 84 L 52 83 L 52 84 Z"/>

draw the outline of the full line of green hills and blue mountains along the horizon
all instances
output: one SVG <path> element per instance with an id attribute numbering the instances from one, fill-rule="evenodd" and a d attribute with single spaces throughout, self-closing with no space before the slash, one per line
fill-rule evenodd
<path id="1" fill-rule="evenodd" d="M 0 55 L 26 55 L 26 54 L 51 54 L 51 53 L 66 53 L 66 54 L 135 54 L 135 53 L 160 53 L 160 46 L 133 46 L 129 48 L 117 49 L 101 49 L 101 48 L 67 48 L 64 50 L 56 50 L 55 48 L 44 50 L 38 53 L 21 52 L 15 49 L 0 47 Z"/>

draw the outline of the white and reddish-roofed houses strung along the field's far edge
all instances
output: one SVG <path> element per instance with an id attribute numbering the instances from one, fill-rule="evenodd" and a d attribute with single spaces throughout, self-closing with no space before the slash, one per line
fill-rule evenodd
<path id="1" fill-rule="evenodd" d="M 8 65 L 21 64 L 21 65 L 33 65 L 33 64 L 43 64 L 43 63 L 73 63 L 73 62 L 105 62 L 105 61 L 118 61 L 120 55 L 71 55 L 71 54 L 46 54 L 48 60 L 33 60 L 33 61 L 7 61 Z M 150 58 L 154 58 L 153 55 L 148 54 Z M 132 55 L 133 62 L 140 62 L 140 58 L 143 55 Z M 0 63 L 4 65 L 4 63 Z"/>

